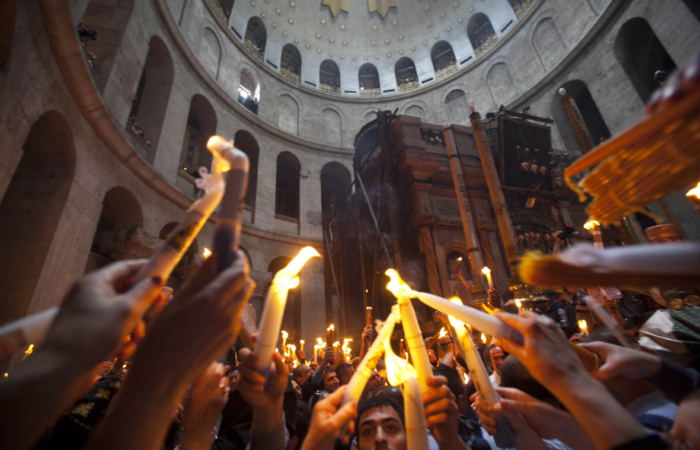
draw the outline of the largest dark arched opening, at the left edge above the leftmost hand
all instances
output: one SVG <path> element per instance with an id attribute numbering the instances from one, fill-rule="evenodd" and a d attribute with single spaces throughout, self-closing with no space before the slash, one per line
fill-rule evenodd
<path id="1" fill-rule="evenodd" d="M 22 150 L 0 203 L 0 323 L 29 309 L 75 172 L 73 134 L 57 111 L 34 122 Z"/>

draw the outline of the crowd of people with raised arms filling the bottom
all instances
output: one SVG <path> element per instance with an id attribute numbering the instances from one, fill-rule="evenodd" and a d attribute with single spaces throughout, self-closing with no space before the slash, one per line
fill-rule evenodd
<path id="1" fill-rule="evenodd" d="M 309 357 L 299 351 L 297 364 L 274 353 L 265 381 L 251 350 L 257 319 L 247 302 L 255 284 L 245 256 L 239 252 L 218 275 L 215 260 L 169 301 L 163 280 L 130 286 L 144 261 L 117 262 L 77 281 L 43 344 L 0 382 L 0 447 L 406 448 L 403 393 L 387 383 L 383 361 L 359 401 L 341 406 L 374 338 L 371 326 L 357 358 L 331 346 Z M 495 405 L 478 394 L 449 333 L 426 338 L 431 448 L 496 449 L 501 418 L 521 449 L 700 448 L 692 358 L 687 367 L 639 345 L 623 347 L 606 329 L 574 330 L 558 294 L 544 294 L 542 314 L 496 313 L 524 345 L 477 344 L 501 397 Z M 489 302 L 503 306 L 493 290 Z M 696 307 L 687 312 L 697 316 Z M 592 374 L 567 334 L 600 358 Z M 400 353 L 408 358 L 403 347 Z M 620 378 L 615 388 L 606 385 Z"/>

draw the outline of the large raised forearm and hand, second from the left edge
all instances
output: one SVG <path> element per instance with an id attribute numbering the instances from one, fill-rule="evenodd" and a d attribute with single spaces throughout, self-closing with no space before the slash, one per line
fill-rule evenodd
<path id="1" fill-rule="evenodd" d="M 88 449 L 158 449 L 187 386 L 238 336 L 254 282 L 242 254 L 221 274 L 216 257 L 163 309 L 134 354 L 132 369 Z"/>

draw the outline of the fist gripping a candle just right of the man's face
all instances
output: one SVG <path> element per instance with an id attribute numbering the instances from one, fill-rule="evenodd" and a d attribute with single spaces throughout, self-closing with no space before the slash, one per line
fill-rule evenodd
<path id="1" fill-rule="evenodd" d="M 459 407 L 447 378 L 429 377 L 423 393 L 425 421 L 442 450 L 468 449 L 459 437 Z"/>

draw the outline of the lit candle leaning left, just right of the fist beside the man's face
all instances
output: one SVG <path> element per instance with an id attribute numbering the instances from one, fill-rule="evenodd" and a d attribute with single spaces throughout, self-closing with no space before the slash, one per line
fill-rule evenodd
<path id="1" fill-rule="evenodd" d="M 462 305 L 462 301 L 459 298 L 453 298 L 451 301 L 456 305 Z M 481 359 L 481 356 L 479 356 L 479 350 L 476 345 L 474 345 L 471 333 L 467 330 L 464 322 L 455 319 L 455 317 L 451 315 L 448 317 L 450 325 L 452 325 L 457 334 L 457 340 L 461 343 L 462 355 L 464 356 L 464 361 L 467 363 L 467 367 L 469 367 L 469 373 L 471 374 L 471 379 L 474 380 L 474 386 L 476 387 L 476 392 L 479 394 L 479 398 L 481 398 L 487 406 L 495 406 L 500 401 L 500 396 L 489 379 L 486 366 L 484 366 L 484 361 Z M 481 334 L 481 338 L 485 338 L 483 333 Z M 469 379 L 465 377 L 465 382 L 468 381 Z M 505 417 L 501 417 L 496 421 L 495 441 L 496 445 L 500 448 L 517 447 L 515 436 Z"/>

